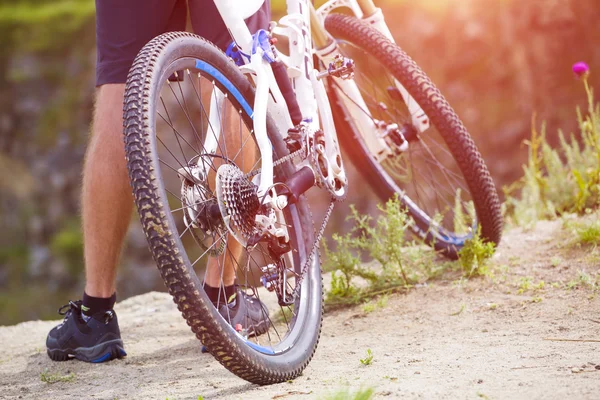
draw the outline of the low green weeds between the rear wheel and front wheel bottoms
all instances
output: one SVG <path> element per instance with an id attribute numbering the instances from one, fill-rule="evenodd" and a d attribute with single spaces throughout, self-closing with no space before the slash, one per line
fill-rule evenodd
<path id="1" fill-rule="evenodd" d="M 354 223 L 346 235 L 332 236 L 336 249 L 325 249 L 324 271 L 331 271 L 326 305 L 339 306 L 368 302 L 377 296 L 410 288 L 454 269 L 456 264 L 441 260 L 430 247 L 407 239 L 413 224 L 397 196 L 378 206 L 382 215 L 374 219 L 351 207 L 348 220 Z M 363 260 L 371 260 L 365 264 Z M 367 303 L 365 312 L 385 307 Z"/>

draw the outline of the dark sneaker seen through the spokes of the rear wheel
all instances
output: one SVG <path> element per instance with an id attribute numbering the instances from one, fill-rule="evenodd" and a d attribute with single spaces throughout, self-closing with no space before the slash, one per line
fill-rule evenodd
<path id="1" fill-rule="evenodd" d="M 219 313 L 238 332 L 247 336 L 258 336 L 269 330 L 269 310 L 255 296 L 236 288 L 235 295 L 229 304 L 221 305 Z"/>

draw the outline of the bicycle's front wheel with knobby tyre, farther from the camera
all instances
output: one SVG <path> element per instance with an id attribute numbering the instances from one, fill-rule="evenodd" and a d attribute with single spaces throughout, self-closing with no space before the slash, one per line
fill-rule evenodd
<path id="1" fill-rule="evenodd" d="M 457 258 L 478 227 L 499 243 L 500 201 L 485 162 L 454 110 L 417 64 L 373 27 L 341 14 L 325 20 L 339 52 L 355 61 L 358 94 L 332 78 L 334 117 L 352 162 L 383 200 L 398 194 L 415 232 Z M 406 90 L 412 97 L 407 98 Z M 408 100 L 407 100 L 408 99 Z M 426 114 L 416 126 L 416 101 Z M 385 141 L 375 154 L 367 140 Z"/>

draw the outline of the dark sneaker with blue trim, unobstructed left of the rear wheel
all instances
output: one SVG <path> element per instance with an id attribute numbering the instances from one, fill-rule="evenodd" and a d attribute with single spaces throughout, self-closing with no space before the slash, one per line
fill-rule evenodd
<path id="1" fill-rule="evenodd" d="M 67 309 L 68 307 L 68 309 Z M 87 317 L 81 313 L 81 301 L 70 301 L 58 310 L 63 322 L 52 328 L 46 339 L 48 356 L 54 361 L 76 358 L 100 363 L 127 355 L 113 310 Z"/>

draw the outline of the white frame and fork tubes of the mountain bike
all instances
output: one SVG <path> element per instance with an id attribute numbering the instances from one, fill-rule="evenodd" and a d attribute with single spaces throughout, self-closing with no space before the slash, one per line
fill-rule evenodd
<path id="1" fill-rule="evenodd" d="M 293 128 L 285 99 L 279 89 L 270 64 L 263 58 L 263 50 L 260 48 L 253 51 L 253 38 L 246 26 L 244 19 L 254 14 L 265 0 L 214 0 L 214 3 L 229 29 L 238 48 L 244 54 L 250 54 L 250 63 L 242 67 L 244 73 L 251 74 L 256 84 L 256 96 L 254 101 L 254 135 L 261 153 L 261 174 L 258 187 L 258 195 L 267 194 L 273 186 L 273 151 L 267 136 L 266 117 L 267 109 L 275 120 L 279 132 L 286 137 L 289 129 Z M 372 4 L 372 3 L 371 3 Z M 381 9 L 375 9 L 372 15 L 363 15 L 360 0 L 330 0 L 321 6 L 316 15 L 322 24 L 324 18 L 334 9 L 347 7 L 351 9 L 357 18 L 363 18 L 375 29 L 382 32 L 390 40 L 393 37 L 388 29 Z M 289 38 L 289 55 L 278 54 L 288 69 L 288 75 L 296 92 L 296 99 L 300 106 L 304 121 L 312 131 L 322 129 L 325 138 L 325 153 L 329 161 L 329 179 L 341 179 L 345 182 L 345 171 L 341 165 L 341 156 L 338 145 L 335 125 L 327 92 L 323 82 L 317 78 L 318 71 L 313 65 L 313 54 L 316 54 L 325 65 L 329 65 L 333 58 L 340 54 L 335 41 L 330 46 L 320 50 L 313 49 L 311 37 L 311 13 L 315 10 L 310 0 L 287 0 L 287 15 L 273 28 L 273 33 Z M 313 14 L 314 17 L 314 14 Z M 314 21 L 314 19 L 313 19 Z M 356 83 L 352 79 L 334 78 L 338 86 L 344 92 L 340 95 L 341 101 L 353 118 L 353 122 L 359 127 L 358 131 L 364 135 L 363 140 L 376 158 L 383 159 L 391 153 L 391 149 L 383 139 L 380 128 L 375 126 L 373 118 L 368 113 L 368 108 L 362 98 Z M 406 102 L 413 118 L 413 124 L 422 132 L 428 128 L 427 116 L 418 104 L 408 95 L 406 90 L 396 82 L 396 85 Z M 220 123 L 217 110 L 223 104 L 223 94 L 216 89 L 211 100 L 210 119 L 213 127 L 219 129 Z M 376 132 L 379 134 L 373 135 Z M 369 134 L 365 134 L 369 133 Z M 217 148 L 216 140 L 205 143 L 205 151 L 214 152 Z M 200 163 L 200 161 L 199 161 Z"/>

